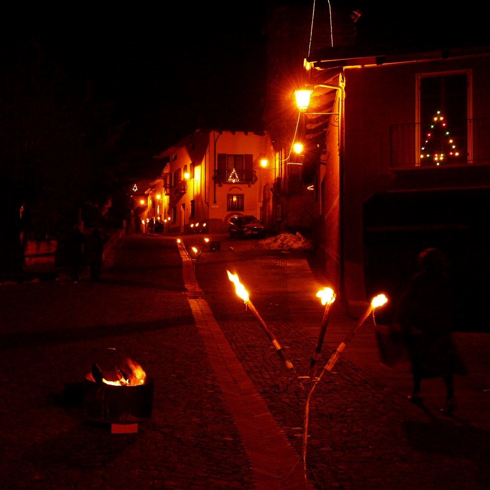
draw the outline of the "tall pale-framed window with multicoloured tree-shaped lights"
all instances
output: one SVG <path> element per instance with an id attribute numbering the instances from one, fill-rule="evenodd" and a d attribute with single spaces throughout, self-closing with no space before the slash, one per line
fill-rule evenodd
<path id="1" fill-rule="evenodd" d="M 468 73 L 420 75 L 419 164 L 468 160 Z"/>

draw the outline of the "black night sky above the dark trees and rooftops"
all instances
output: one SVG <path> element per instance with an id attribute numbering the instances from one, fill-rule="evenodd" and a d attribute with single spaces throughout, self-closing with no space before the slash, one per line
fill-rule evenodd
<path id="1" fill-rule="evenodd" d="M 128 123 L 128 147 L 148 147 L 151 153 L 199 126 L 262 125 L 266 13 L 271 5 L 287 3 L 311 10 L 314 2 L 80 3 L 70 9 L 37 7 L 37 12 L 17 7 L 18 12 L 3 15 L 0 39 L 7 51 L 15 43 L 40 39 L 73 84 L 85 90 L 90 81 L 97 100 L 115 105 L 116 118 Z M 486 12 L 444 2 L 396 8 L 387 1 L 331 4 L 360 8 L 359 36 L 379 43 L 393 37 L 416 42 L 427 33 L 459 35 L 468 19 L 478 22 L 473 33 L 487 32 L 482 27 Z"/>

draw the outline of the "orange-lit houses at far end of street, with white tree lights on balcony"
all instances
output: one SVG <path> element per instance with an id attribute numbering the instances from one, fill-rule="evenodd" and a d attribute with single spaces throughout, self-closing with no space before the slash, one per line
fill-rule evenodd
<path id="1" fill-rule="evenodd" d="M 233 214 L 254 215 L 271 233 L 278 226 L 280 169 L 268 134 L 197 130 L 154 158 L 162 171 L 146 190 L 147 231 L 186 233 L 206 223 L 208 233 L 226 233 Z"/>

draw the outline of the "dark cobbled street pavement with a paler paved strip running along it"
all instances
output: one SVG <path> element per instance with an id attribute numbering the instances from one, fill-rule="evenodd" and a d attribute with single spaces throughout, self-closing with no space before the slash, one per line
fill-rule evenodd
<path id="1" fill-rule="evenodd" d="M 425 409 L 406 401 L 410 376 L 379 363 L 369 317 L 311 397 L 302 459 L 307 383 L 298 376 L 318 337 L 324 279 L 308 252 L 212 239 L 221 249 L 204 247 L 193 262 L 175 237 L 125 236 L 100 283 L 0 285 L 5 488 L 489 487 L 488 334 L 456 336 L 469 375 L 457 380 L 456 415 L 444 417 L 437 382 L 423 385 Z M 226 270 L 240 275 L 293 369 Z M 356 325 L 351 306 L 334 303 L 320 367 Z M 136 434 L 84 417 L 79 382 L 108 348 L 155 380 L 152 418 Z"/>

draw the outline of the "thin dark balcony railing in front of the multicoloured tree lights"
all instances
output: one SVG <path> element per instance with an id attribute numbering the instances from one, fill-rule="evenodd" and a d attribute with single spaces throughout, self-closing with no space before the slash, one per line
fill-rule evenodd
<path id="1" fill-rule="evenodd" d="M 442 160 L 435 161 L 434 145 L 431 157 L 421 158 L 426 140 L 426 127 L 420 123 L 393 124 L 390 127 L 391 167 L 409 169 L 416 167 L 437 167 L 443 165 L 490 164 L 490 118 L 467 119 L 447 126 L 454 139 L 458 155 L 449 156 L 447 148 L 439 151 Z M 432 142 L 434 143 L 434 142 Z M 444 143 L 445 146 L 445 143 Z"/>

